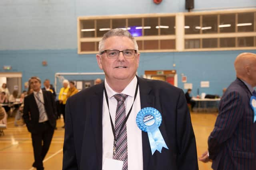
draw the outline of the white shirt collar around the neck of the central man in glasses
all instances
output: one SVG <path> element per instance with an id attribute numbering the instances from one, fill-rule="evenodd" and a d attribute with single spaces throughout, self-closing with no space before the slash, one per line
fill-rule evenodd
<path id="1" fill-rule="evenodd" d="M 136 76 L 134 76 L 132 81 L 124 88 L 124 90 L 121 93 L 126 94 L 131 97 L 134 97 L 137 81 L 138 80 L 137 80 Z M 108 85 L 106 78 L 104 80 L 104 83 L 105 83 L 105 88 L 106 88 L 106 91 L 108 94 L 108 98 L 110 99 L 117 93 Z"/>

